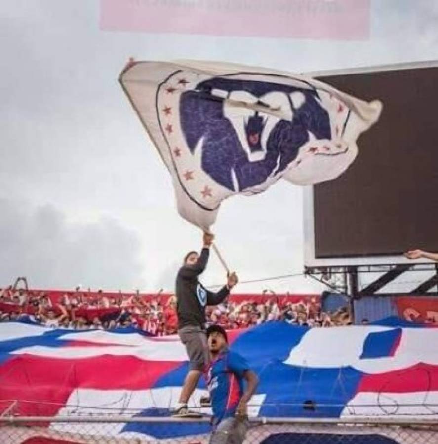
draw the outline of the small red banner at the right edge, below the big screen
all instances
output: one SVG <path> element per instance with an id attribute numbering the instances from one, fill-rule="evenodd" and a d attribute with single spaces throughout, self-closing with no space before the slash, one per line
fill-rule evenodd
<path id="1" fill-rule="evenodd" d="M 438 325 L 438 297 L 397 297 L 394 302 L 400 318 Z"/>

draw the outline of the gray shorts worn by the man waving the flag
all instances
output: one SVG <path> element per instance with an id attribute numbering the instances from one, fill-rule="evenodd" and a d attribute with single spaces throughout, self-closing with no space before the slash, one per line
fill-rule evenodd
<path id="1" fill-rule="evenodd" d="M 210 362 L 205 332 L 200 327 L 188 325 L 179 329 L 178 335 L 186 347 L 190 370 L 205 370 L 205 366 Z"/>

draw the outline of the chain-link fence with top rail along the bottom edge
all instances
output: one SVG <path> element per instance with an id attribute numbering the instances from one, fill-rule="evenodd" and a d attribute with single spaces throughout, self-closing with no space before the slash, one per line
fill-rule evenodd
<path id="1" fill-rule="evenodd" d="M 207 418 L 14 417 L 0 418 L 4 444 L 208 443 Z M 224 441 L 233 442 L 233 441 Z M 249 422 L 245 443 L 255 444 L 438 444 L 438 422 L 257 418 Z"/>

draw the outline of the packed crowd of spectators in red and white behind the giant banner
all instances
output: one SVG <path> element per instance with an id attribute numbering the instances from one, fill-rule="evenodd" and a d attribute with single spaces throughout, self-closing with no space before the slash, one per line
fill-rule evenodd
<path id="1" fill-rule="evenodd" d="M 104 293 L 76 288 L 73 292 L 40 291 L 10 286 L 0 290 L 0 321 L 24 320 L 66 329 L 114 329 L 138 327 L 154 336 L 176 333 L 176 297 Z M 207 308 L 207 324 L 227 329 L 245 328 L 283 320 L 309 327 L 351 324 L 347 309 L 321 311 L 319 296 L 233 295 L 224 303 Z"/>

